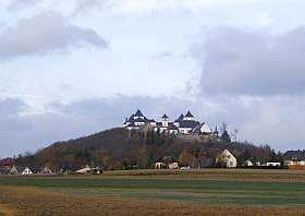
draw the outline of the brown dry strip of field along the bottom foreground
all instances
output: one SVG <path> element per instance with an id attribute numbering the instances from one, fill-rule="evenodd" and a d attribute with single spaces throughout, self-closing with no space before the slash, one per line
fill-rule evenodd
<path id="1" fill-rule="evenodd" d="M 305 215 L 302 207 L 209 206 L 175 201 L 73 195 L 30 187 L 0 187 L 0 207 L 12 215 Z M 19 212 L 10 212 L 14 206 Z M 1 209 L 1 208 L 0 208 Z M 8 215 L 7 214 L 7 215 Z"/>

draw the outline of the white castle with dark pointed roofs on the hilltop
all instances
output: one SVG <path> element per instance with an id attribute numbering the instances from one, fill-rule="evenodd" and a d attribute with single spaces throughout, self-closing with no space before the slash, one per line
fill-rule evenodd
<path id="1" fill-rule="evenodd" d="M 125 119 L 123 127 L 127 130 L 142 130 L 144 128 L 149 128 L 154 131 L 176 134 L 188 139 L 192 137 L 192 140 L 203 136 L 218 136 L 217 127 L 212 131 L 206 122 L 200 123 L 196 120 L 191 111 L 187 111 L 185 115 L 180 115 L 180 117 L 173 122 L 170 121 L 168 115 L 166 113 L 160 120 L 161 121 L 155 121 L 154 119 L 148 119 L 138 109 L 135 113 Z"/>

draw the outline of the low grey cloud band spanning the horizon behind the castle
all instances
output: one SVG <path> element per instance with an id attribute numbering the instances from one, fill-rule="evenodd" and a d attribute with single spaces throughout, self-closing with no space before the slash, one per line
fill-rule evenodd
<path id="1" fill-rule="evenodd" d="M 54 101 L 46 106 L 46 113 L 21 116 L 19 112 L 24 104 L 22 100 L 1 104 L 14 111 L 10 116 L 3 112 L 0 118 L 0 157 L 37 151 L 57 141 L 120 127 L 137 108 L 155 120 L 160 120 L 164 112 L 175 120 L 190 109 L 210 127 L 224 121 L 230 131 L 240 130 L 240 140 L 268 143 L 281 151 L 303 148 L 302 141 L 305 140 L 305 99 L 298 97 L 215 96 L 187 100 L 118 95 L 115 98 L 90 98 L 71 104 Z"/>

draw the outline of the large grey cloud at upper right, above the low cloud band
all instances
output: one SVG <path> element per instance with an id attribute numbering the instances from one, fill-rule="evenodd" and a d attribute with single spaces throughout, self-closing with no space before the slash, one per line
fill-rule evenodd
<path id="1" fill-rule="evenodd" d="M 218 29 L 195 51 L 205 95 L 304 95 L 305 27 L 270 36 Z"/>

